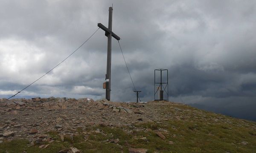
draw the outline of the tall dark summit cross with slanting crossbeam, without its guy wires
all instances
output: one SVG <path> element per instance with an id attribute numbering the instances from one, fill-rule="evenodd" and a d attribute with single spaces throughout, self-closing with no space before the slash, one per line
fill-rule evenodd
<path id="1" fill-rule="evenodd" d="M 110 83 L 111 83 L 111 38 L 114 37 L 116 40 L 120 40 L 116 34 L 112 31 L 112 12 L 113 8 L 109 7 L 108 14 L 108 28 L 98 23 L 98 27 L 105 31 L 105 36 L 108 37 L 108 55 L 107 55 L 107 74 L 106 74 L 106 99 L 110 100 Z"/>

